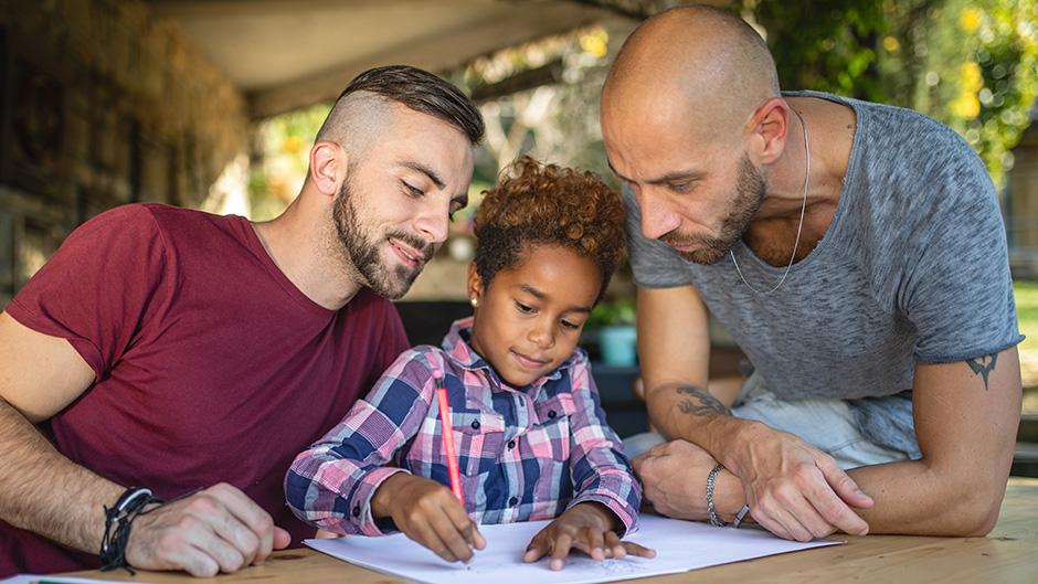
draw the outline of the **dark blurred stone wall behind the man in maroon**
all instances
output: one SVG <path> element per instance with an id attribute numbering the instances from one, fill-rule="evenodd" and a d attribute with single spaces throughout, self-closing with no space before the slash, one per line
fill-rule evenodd
<path id="1" fill-rule="evenodd" d="M 212 208 L 247 152 L 242 95 L 135 0 L 0 0 L 0 307 L 83 221 Z"/>

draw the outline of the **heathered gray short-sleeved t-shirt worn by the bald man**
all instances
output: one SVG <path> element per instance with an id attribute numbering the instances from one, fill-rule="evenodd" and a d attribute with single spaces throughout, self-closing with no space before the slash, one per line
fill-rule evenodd
<path id="1" fill-rule="evenodd" d="M 857 115 L 825 237 L 777 290 L 758 295 L 730 257 L 698 265 L 642 235 L 640 210 L 625 190 L 635 280 L 695 285 L 771 392 L 848 400 L 867 437 L 918 458 L 915 363 L 964 361 L 1023 340 L 994 187 L 970 146 L 921 114 L 815 92 L 785 95 L 829 99 Z M 742 242 L 733 252 L 758 289 L 785 270 Z"/>

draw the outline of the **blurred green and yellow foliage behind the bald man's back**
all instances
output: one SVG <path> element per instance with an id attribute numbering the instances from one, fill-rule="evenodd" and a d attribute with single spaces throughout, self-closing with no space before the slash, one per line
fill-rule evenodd
<path id="1" fill-rule="evenodd" d="M 956 130 L 996 185 L 1038 96 L 1035 0 L 742 0 L 790 89 L 909 107 Z"/>

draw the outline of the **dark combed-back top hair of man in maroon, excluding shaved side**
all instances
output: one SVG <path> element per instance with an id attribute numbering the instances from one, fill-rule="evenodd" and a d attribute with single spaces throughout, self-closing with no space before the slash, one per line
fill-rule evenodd
<path id="1" fill-rule="evenodd" d="M 479 108 L 460 89 L 427 71 L 409 65 L 370 68 L 353 77 L 336 103 L 356 92 L 368 92 L 428 114 L 462 130 L 473 146 L 483 140 Z"/>

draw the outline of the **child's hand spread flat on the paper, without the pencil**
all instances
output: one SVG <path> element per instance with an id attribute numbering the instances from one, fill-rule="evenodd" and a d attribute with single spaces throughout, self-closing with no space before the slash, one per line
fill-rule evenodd
<path id="1" fill-rule="evenodd" d="M 594 560 L 623 558 L 634 554 L 655 558 L 656 552 L 629 541 L 619 541 L 616 516 L 603 505 L 584 502 L 569 508 L 533 537 L 522 555 L 523 562 L 536 562 L 551 554 L 549 567 L 562 570 L 571 549 L 578 549 Z"/>

